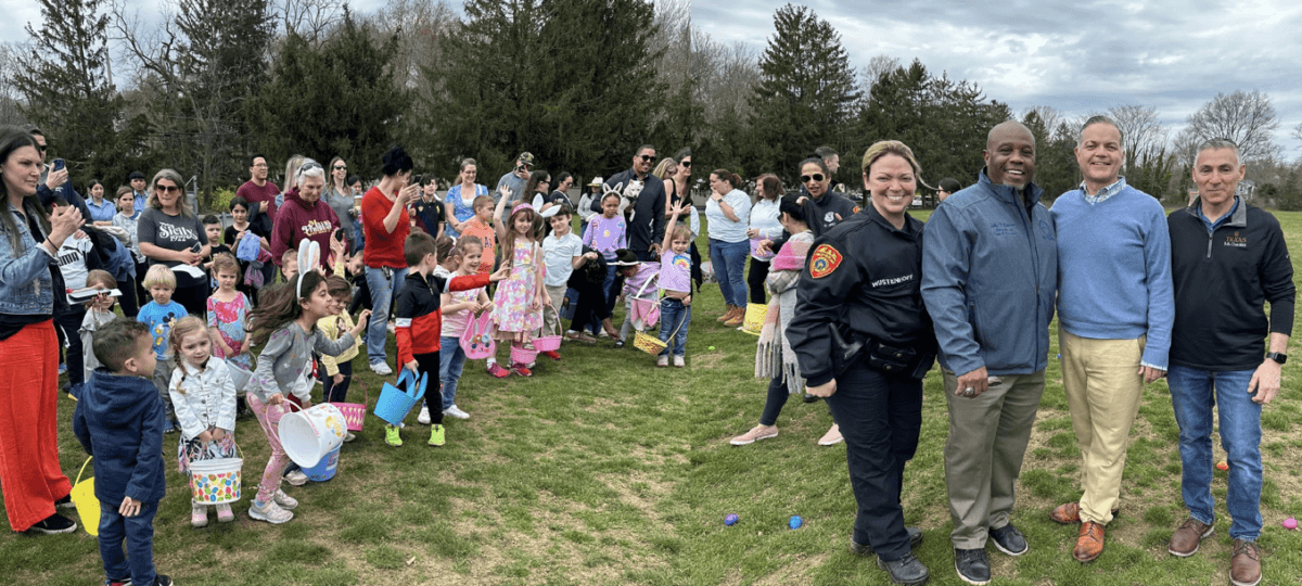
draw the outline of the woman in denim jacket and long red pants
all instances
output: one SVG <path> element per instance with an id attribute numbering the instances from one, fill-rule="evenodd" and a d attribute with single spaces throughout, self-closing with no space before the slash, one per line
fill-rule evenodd
<path id="1" fill-rule="evenodd" d="M 53 314 L 66 305 L 55 262 L 82 224 L 81 212 L 53 214 L 36 199 L 36 141 L 0 129 L 0 486 L 14 531 L 70 533 L 77 523 L 55 512 L 72 483 L 59 467 L 59 346 Z M 56 296 L 55 292 L 60 294 Z"/>

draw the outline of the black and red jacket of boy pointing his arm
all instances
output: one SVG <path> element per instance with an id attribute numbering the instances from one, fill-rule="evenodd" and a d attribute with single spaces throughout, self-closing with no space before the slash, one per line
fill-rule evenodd
<path id="1" fill-rule="evenodd" d="M 367 242 L 370 246 L 370 242 Z M 398 367 L 415 359 L 417 354 L 439 352 L 443 335 L 440 296 L 453 290 L 478 289 L 488 285 L 488 275 L 470 275 L 447 279 L 439 275 L 424 277 L 411 271 L 398 293 L 393 313 L 398 339 Z M 437 290 L 437 292 L 436 292 Z"/>

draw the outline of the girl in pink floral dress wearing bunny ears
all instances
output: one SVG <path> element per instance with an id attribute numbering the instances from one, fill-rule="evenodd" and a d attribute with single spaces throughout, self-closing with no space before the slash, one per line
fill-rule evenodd
<path id="1" fill-rule="evenodd" d="M 493 217 L 500 215 L 505 203 L 506 195 L 503 194 Z M 493 297 L 496 339 L 499 342 L 510 342 L 510 346 L 521 349 L 533 340 L 533 332 L 543 326 L 543 306 L 551 305 L 547 289 L 543 289 L 547 267 L 543 264 L 542 247 L 538 246 L 538 232 L 534 227 L 536 221 L 538 212 L 534 211 L 534 206 L 521 203 L 510 211 L 505 224 L 497 225 L 501 266 L 510 270 L 510 279 L 497 286 Z M 499 344 L 497 349 L 505 345 Z M 521 376 L 534 375 L 529 365 L 519 362 L 512 365 L 512 370 Z M 496 363 L 490 372 L 499 379 L 510 376 L 510 371 Z"/>

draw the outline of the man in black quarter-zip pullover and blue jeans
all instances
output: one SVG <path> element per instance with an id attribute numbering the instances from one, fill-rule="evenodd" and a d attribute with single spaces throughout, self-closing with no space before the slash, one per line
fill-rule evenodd
<path id="1" fill-rule="evenodd" d="M 1170 402 L 1180 423 L 1181 491 L 1189 518 L 1170 537 L 1187 557 L 1212 534 L 1212 406 L 1228 452 L 1225 508 L 1233 522 L 1230 582 L 1262 579 L 1262 406 L 1280 391 L 1280 367 L 1293 332 L 1293 264 L 1279 221 L 1234 195 L 1247 171 L 1226 139 L 1203 143 L 1194 159 L 1198 198 L 1170 212 L 1170 270 L 1176 294 Z M 1269 319 L 1263 302 L 1271 303 Z M 1269 332 L 1269 353 L 1262 339 Z M 1215 395 L 1212 395 L 1215 389 Z"/>

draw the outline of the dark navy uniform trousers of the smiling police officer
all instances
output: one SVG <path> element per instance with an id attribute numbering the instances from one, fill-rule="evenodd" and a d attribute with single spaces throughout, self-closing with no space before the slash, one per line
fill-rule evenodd
<path id="1" fill-rule="evenodd" d="M 872 546 L 884 561 L 898 560 L 909 553 L 900 491 L 905 462 L 918 449 L 922 380 L 858 363 L 836 382 L 827 405 L 845 436 L 850 487 L 858 504 L 854 542 Z"/>

